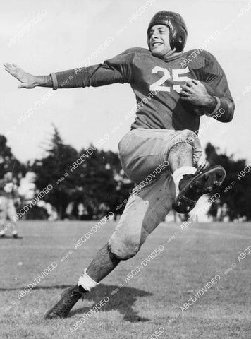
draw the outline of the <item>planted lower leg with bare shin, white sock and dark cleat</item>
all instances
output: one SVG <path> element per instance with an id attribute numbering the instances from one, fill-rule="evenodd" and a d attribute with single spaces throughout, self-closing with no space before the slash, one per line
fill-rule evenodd
<path id="1" fill-rule="evenodd" d="M 97 286 L 100 280 L 111 273 L 119 262 L 120 260 L 116 258 L 114 254 L 111 254 L 108 244 L 102 247 L 92 260 L 92 263 L 90 263 L 90 266 L 85 270 L 85 273 L 81 275 L 78 284 L 69 287 L 62 293 L 59 302 L 47 311 L 44 319 L 65 318 L 75 303 L 78 302 L 86 292 Z"/>

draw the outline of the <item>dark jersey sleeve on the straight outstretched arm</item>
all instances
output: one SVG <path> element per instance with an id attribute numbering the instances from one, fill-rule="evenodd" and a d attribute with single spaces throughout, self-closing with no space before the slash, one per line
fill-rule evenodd
<path id="1" fill-rule="evenodd" d="M 135 52 L 127 50 L 116 57 L 88 67 L 55 73 L 56 88 L 98 87 L 111 83 L 130 83 Z"/>

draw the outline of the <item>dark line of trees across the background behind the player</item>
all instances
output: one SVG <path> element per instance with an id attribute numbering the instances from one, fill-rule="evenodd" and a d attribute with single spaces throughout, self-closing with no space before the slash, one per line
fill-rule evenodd
<path id="1" fill-rule="evenodd" d="M 209 215 L 216 218 L 221 208 L 229 220 L 251 220 L 251 165 L 244 159 L 235 160 L 233 155 L 221 153 L 211 143 L 205 151 L 209 165 L 221 165 L 227 173 L 224 184 L 212 192 L 218 192 L 221 198 L 212 205 Z M 121 214 L 135 186 L 123 173 L 118 153 L 99 150 L 94 145 L 78 152 L 63 143 L 56 127 L 44 156 L 25 164 L 13 156 L 6 137 L 0 136 L 0 178 L 6 172 L 13 172 L 18 182 L 27 172 L 34 172 L 37 192 L 52 185 L 53 189 L 43 200 L 56 209 L 59 219 L 79 218 L 80 204 L 84 208 L 83 219 L 102 218 L 109 211 Z M 37 206 L 32 208 L 32 213 L 32 218 L 39 218 Z"/>

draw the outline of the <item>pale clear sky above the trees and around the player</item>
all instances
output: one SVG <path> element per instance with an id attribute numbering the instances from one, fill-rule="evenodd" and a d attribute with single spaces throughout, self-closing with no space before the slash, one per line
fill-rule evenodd
<path id="1" fill-rule="evenodd" d="M 214 54 L 226 73 L 236 102 L 235 117 L 228 124 L 208 124 L 200 141 L 203 148 L 211 142 L 222 152 L 251 162 L 251 1 L 0 0 L 0 8 L 1 65 L 13 62 L 34 75 L 73 69 L 93 57 L 106 40 L 111 44 L 99 49 L 91 64 L 102 63 L 130 47 L 147 48 L 149 20 L 160 10 L 176 11 L 185 19 L 185 50 L 199 47 L 217 32 L 205 49 Z M 0 77 L 0 134 L 6 136 L 22 162 L 42 157 L 53 124 L 64 143 L 77 150 L 102 141 L 100 148 L 118 151 L 118 142 L 133 123 L 133 119 L 125 119 L 135 106 L 128 84 L 27 90 L 18 89 L 18 81 L 4 66 Z M 42 105 L 20 122 L 39 101 Z M 203 117 L 202 124 L 207 119 Z M 109 140 L 104 142 L 104 136 Z"/>

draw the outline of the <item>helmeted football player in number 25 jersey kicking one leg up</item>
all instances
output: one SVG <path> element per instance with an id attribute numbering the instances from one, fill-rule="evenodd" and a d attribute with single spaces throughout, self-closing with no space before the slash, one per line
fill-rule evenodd
<path id="1" fill-rule="evenodd" d="M 178 13 L 160 11 L 147 29 L 149 50 L 131 48 L 103 64 L 49 76 L 32 76 L 16 64 L 4 65 L 20 81 L 18 88 L 130 83 L 139 105 L 130 131 L 118 144 L 123 170 L 139 184 L 161 164 L 169 164 L 154 180 L 139 185 L 140 189 L 130 195 L 108 243 L 78 283 L 63 292 L 46 319 L 66 317 L 74 304 L 99 285 L 121 260 L 135 256 L 172 206 L 178 213 L 188 213 L 202 194 L 224 180 L 222 167 L 198 167 L 202 149 L 197 131 L 202 114 L 221 122 L 231 121 L 233 99 L 224 71 L 212 54 L 202 50 L 183 52 L 187 35 Z M 188 58 L 190 54 L 196 57 Z"/>

